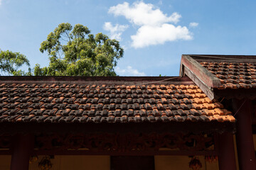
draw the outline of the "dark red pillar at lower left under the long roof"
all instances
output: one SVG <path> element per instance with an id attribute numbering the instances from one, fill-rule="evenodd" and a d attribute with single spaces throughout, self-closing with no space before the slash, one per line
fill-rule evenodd
<path id="1" fill-rule="evenodd" d="M 33 135 L 16 135 L 13 139 L 11 170 L 28 170 L 33 149 Z"/>

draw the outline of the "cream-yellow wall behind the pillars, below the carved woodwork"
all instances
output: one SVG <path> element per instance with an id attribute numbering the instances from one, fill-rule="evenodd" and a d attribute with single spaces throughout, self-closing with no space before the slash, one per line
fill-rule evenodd
<path id="1" fill-rule="evenodd" d="M 29 170 L 37 170 L 38 162 L 43 156 L 38 157 L 37 162 L 33 162 L 29 166 Z M 208 163 L 204 157 L 199 157 L 202 169 L 201 170 L 218 170 L 218 162 Z M 53 164 L 51 170 L 110 170 L 110 156 L 55 156 L 54 159 L 50 159 Z M 179 169 L 188 170 L 188 163 L 191 158 L 187 156 L 155 156 L 155 169 Z M 11 156 L 0 156 L 0 169 L 9 170 L 11 164 Z M 39 170 L 39 169 L 38 169 Z"/>

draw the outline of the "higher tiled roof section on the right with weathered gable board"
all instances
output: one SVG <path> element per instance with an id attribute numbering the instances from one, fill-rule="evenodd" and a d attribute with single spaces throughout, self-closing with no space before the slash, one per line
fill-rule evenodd
<path id="1" fill-rule="evenodd" d="M 210 99 L 256 97 L 256 56 L 183 55 L 181 67 Z"/>

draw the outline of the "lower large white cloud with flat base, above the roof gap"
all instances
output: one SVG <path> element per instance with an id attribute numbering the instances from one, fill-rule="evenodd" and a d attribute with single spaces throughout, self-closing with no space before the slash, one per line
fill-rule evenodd
<path id="1" fill-rule="evenodd" d="M 142 26 L 136 35 L 132 35 L 132 47 L 146 47 L 149 45 L 164 44 L 166 41 L 191 40 L 192 35 L 188 28 L 164 23 L 162 26 Z"/>

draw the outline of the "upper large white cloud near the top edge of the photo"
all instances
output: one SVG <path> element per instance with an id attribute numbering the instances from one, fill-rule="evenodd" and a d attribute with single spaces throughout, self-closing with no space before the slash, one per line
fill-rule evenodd
<path id="1" fill-rule="evenodd" d="M 134 2 L 132 6 L 129 6 L 128 2 L 112 6 L 109 13 L 113 13 L 114 16 L 124 16 L 137 26 L 160 26 L 166 22 L 177 23 L 181 18 L 178 13 L 167 16 L 153 4 L 145 4 L 143 1 Z"/>

